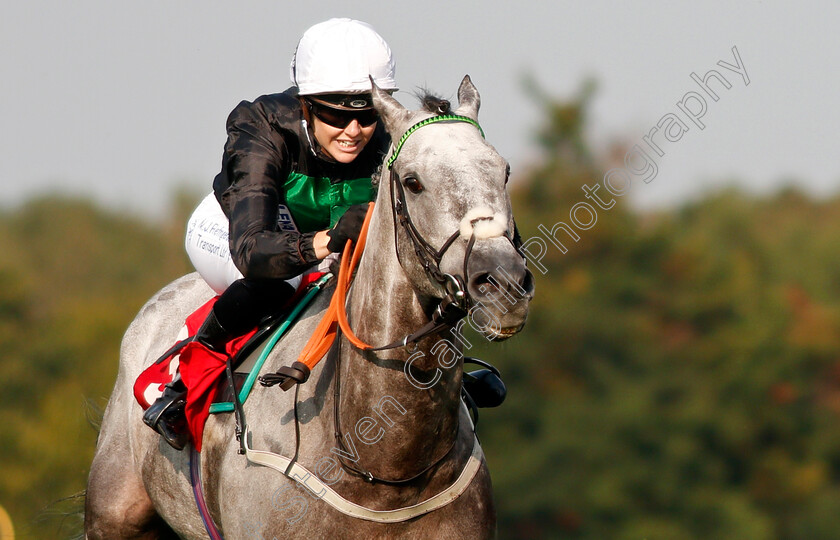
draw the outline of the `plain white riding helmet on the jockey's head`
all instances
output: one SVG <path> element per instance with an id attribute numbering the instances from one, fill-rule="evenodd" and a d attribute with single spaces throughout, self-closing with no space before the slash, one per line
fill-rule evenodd
<path id="1" fill-rule="evenodd" d="M 391 48 L 367 23 L 330 19 L 300 38 L 289 76 L 298 94 L 370 92 L 370 78 L 383 90 L 397 90 Z"/>

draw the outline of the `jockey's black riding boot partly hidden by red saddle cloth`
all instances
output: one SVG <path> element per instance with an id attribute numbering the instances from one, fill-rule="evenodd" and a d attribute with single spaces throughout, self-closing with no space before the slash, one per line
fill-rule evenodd
<path id="1" fill-rule="evenodd" d="M 210 311 L 201 328 L 191 338 L 208 349 L 224 351 L 225 343 L 233 336 L 219 324 L 216 312 Z M 182 450 L 189 441 L 184 406 L 187 403 L 187 387 L 178 377 L 163 389 L 163 394 L 143 413 L 143 422 L 163 436 L 163 440 L 176 450 Z"/>

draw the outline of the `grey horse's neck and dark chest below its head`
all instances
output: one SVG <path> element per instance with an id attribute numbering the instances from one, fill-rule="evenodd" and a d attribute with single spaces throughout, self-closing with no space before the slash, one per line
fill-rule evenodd
<path id="1" fill-rule="evenodd" d="M 390 209 L 380 203 L 375 212 L 348 317 L 359 338 L 377 347 L 414 332 L 428 317 L 394 253 Z M 409 346 L 377 353 L 345 349 L 341 368 L 344 430 L 358 428 L 357 422 L 365 417 L 385 430 L 375 444 L 357 445 L 362 447 L 357 448 L 360 463 L 374 474 L 397 477 L 416 473 L 418 467 L 428 465 L 454 444 L 461 366 L 444 369 L 438 365 L 431 353 L 438 340 L 432 336 L 417 349 Z M 404 371 L 409 358 L 413 359 L 415 380 L 426 382 L 439 376 L 439 381 L 428 389 L 412 383 Z M 370 428 L 370 433 L 376 435 L 377 428 Z"/>

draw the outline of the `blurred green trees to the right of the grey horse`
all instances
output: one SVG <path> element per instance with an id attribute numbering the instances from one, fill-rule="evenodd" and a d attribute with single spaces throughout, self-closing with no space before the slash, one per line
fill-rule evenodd
<path id="1" fill-rule="evenodd" d="M 539 99 L 523 238 L 609 168 L 585 143 L 591 88 Z M 549 244 L 524 336 L 480 351 L 509 387 L 479 427 L 500 537 L 836 537 L 840 201 L 618 201 L 578 232 Z"/>

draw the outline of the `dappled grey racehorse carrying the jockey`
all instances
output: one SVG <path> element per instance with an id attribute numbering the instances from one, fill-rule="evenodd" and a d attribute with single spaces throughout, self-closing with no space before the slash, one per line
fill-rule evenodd
<path id="1" fill-rule="evenodd" d="M 407 110 L 376 87 L 373 98 L 394 141 L 448 112 L 440 100 Z M 390 169 L 383 166 L 347 316 L 366 343 L 398 341 L 426 325 L 441 299 L 453 294 L 434 279 L 439 276 L 463 284 L 469 316 L 413 346 L 361 350 L 339 337 L 297 388 L 296 412 L 294 391 L 255 388 L 244 404 L 249 448 L 296 455 L 296 464 L 312 473 L 295 474 L 297 481 L 238 453 L 233 415 L 211 416 L 200 470 L 209 514 L 229 540 L 495 536 L 490 474 L 460 397 L 461 351 L 482 336 L 500 340 L 522 328 L 533 276 L 514 247 L 507 163 L 480 132 L 480 99 L 469 77 L 458 100 L 454 115 L 472 123 L 424 124 L 398 149 L 392 146 L 399 155 Z M 423 255 L 423 243 L 434 250 Z M 438 259 L 431 269 L 430 251 Z M 88 480 L 87 538 L 208 538 L 190 485 L 189 452 L 172 449 L 142 423 L 132 385 L 212 294 L 197 274 L 184 276 L 157 293 L 128 328 Z M 297 358 L 328 296 L 304 312 L 264 371 Z M 463 335 L 467 325 L 478 338 Z M 319 494 L 327 489 L 368 514 L 413 513 L 359 517 L 325 502 Z M 438 504 L 418 510 L 438 494 L 445 494 Z"/>

